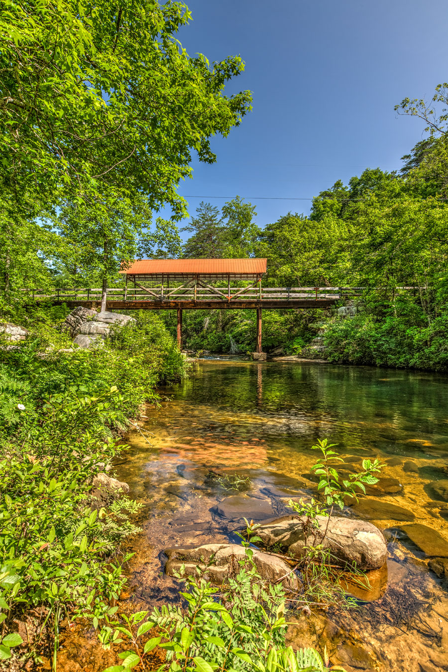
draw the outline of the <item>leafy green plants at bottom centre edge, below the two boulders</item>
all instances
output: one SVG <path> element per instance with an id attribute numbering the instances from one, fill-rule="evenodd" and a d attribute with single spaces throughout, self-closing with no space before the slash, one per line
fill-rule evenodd
<path id="1" fill-rule="evenodd" d="M 233 571 L 219 591 L 201 577 L 184 579 L 181 595 L 186 610 L 164 605 L 131 617 L 123 615 L 123 626 L 106 627 L 99 637 L 105 648 L 124 636 L 133 650 L 119 654 L 122 665 L 105 672 L 127 672 L 156 646 L 166 650 L 166 663 L 159 669 L 214 672 L 225 670 L 256 672 L 324 672 L 329 662 L 314 649 L 294 652 L 285 648 L 284 593 L 278 585 L 266 586 L 251 561 L 245 544 L 245 558 L 235 561 Z M 155 636 L 152 629 L 156 627 Z M 143 636 L 150 636 L 144 644 Z M 164 640 L 162 642 L 162 639 Z M 336 671 L 340 668 L 332 667 Z"/>

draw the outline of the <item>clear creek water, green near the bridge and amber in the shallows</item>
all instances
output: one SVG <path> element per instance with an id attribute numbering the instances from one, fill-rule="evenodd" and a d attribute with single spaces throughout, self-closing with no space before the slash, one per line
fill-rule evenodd
<path id="1" fill-rule="evenodd" d="M 144 503 L 143 532 L 131 542 L 135 601 L 176 595 L 175 583 L 160 575 L 166 546 L 233 539 L 243 517 L 282 515 L 290 497 L 315 494 L 310 448 L 328 437 L 351 470 L 363 457 L 385 463 L 378 485 L 344 515 L 386 531 L 388 572 L 372 573 L 368 589 L 347 587 L 366 604 L 361 612 L 300 616 L 291 636 L 325 644 L 347 670 L 417 672 L 419 662 L 445 669 L 448 601 L 427 554 L 437 532 L 437 553 L 443 556 L 446 544 L 448 558 L 447 378 L 330 364 L 201 362 L 162 393 L 172 401 L 148 408 L 144 424 L 154 432 L 152 447 L 131 433 L 117 465 Z M 249 476 L 249 491 L 223 489 L 219 476 L 229 472 Z"/>

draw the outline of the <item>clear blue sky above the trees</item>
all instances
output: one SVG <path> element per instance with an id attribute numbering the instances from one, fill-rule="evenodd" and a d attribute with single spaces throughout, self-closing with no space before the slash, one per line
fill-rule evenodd
<path id="1" fill-rule="evenodd" d="M 228 91 L 254 95 L 241 126 L 213 140 L 217 163 L 194 161 L 181 183 L 190 214 L 238 194 L 264 226 L 311 202 L 255 197 L 306 199 L 366 167 L 399 168 L 423 122 L 394 105 L 448 80 L 446 0 L 186 1 L 184 48 L 210 61 L 240 54 L 245 72 Z"/>

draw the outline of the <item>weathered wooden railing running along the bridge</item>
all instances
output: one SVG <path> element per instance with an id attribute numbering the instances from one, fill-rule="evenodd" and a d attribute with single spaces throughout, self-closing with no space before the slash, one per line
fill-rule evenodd
<path id="1" fill-rule="evenodd" d="M 108 300 L 115 301 L 191 301 L 216 300 L 239 302 L 247 300 L 319 300 L 355 298 L 361 296 L 362 287 L 231 287 L 230 295 L 227 287 L 111 287 L 107 290 Z M 407 289 L 407 288 L 406 288 Z M 58 302 L 80 300 L 101 301 L 101 288 L 54 288 L 50 290 L 28 289 L 35 300 L 53 300 Z"/>

